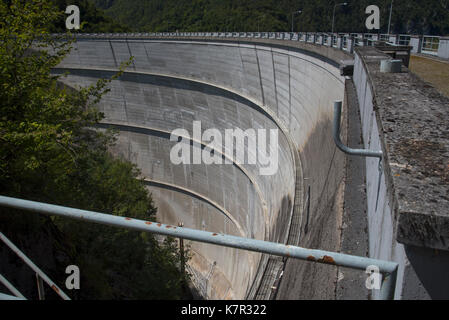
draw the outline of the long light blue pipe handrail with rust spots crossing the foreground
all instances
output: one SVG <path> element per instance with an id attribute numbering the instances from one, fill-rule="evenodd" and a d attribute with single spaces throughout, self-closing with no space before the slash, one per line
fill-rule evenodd
<path id="1" fill-rule="evenodd" d="M 398 264 L 395 262 L 329 251 L 305 249 L 280 243 L 246 239 L 195 229 L 179 228 L 156 222 L 113 216 L 99 212 L 79 210 L 4 196 L 0 196 L 0 206 L 363 271 L 366 271 L 368 267 L 376 266 L 383 275 L 380 298 L 394 298 L 398 269 Z"/>

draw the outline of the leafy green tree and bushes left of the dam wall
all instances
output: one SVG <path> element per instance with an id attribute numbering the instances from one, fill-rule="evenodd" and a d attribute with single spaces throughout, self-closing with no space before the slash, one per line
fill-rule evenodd
<path id="1" fill-rule="evenodd" d="M 50 75 L 71 49 L 70 38 L 49 35 L 62 15 L 43 0 L 0 3 L 0 194 L 152 220 L 156 208 L 139 171 L 108 153 L 111 132 L 92 129 L 103 118 L 98 102 L 121 72 L 77 91 Z M 159 244 L 149 234 L 5 209 L 0 229 L 53 237 L 81 269 L 75 298 L 184 297 L 173 240 Z M 52 257 L 42 259 L 45 269 Z"/>

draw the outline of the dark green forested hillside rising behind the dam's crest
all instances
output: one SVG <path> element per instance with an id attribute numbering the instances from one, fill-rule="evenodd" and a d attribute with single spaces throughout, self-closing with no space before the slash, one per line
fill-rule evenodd
<path id="1" fill-rule="evenodd" d="M 330 31 L 331 0 L 91 0 L 106 14 L 137 31 L 289 31 L 291 12 L 296 31 Z M 344 1 L 337 1 L 337 3 Z M 337 8 L 336 30 L 364 32 L 365 8 L 381 9 L 386 32 L 391 0 L 347 1 Z M 395 0 L 392 31 L 449 34 L 449 0 Z"/>

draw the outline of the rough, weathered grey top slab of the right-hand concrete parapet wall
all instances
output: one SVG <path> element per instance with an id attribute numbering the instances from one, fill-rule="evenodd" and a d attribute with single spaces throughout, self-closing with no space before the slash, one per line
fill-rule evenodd
<path id="1" fill-rule="evenodd" d="M 373 92 L 385 153 L 384 200 L 395 237 L 403 244 L 449 250 L 449 99 L 406 68 L 380 73 L 385 56 L 374 48 L 357 48 L 356 54 Z"/>

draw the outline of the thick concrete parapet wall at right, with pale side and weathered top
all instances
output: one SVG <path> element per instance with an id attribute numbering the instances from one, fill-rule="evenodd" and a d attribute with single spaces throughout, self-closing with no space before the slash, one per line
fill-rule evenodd
<path id="1" fill-rule="evenodd" d="M 449 101 L 405 68 L 380 73 L 384 59 L 356 49 L 365 148 L 385 155 L 381 172 L 377 159 L 366 159 L 369 254 L 399 263 L 395 298 L 447 299 Z"/>

